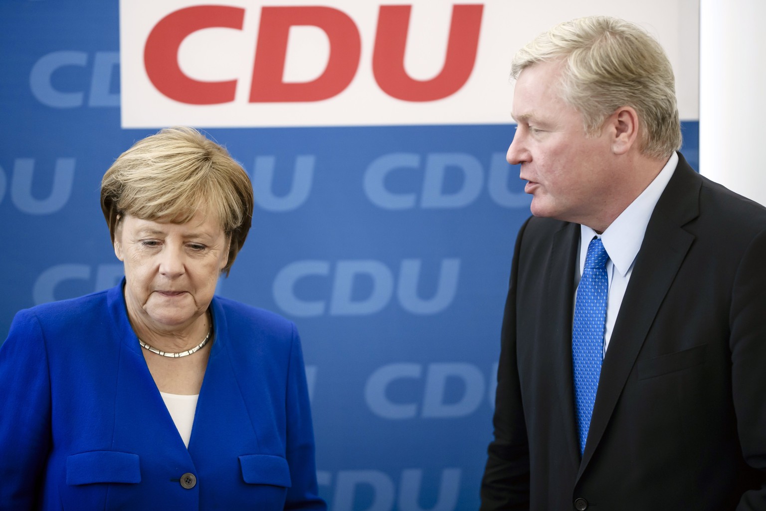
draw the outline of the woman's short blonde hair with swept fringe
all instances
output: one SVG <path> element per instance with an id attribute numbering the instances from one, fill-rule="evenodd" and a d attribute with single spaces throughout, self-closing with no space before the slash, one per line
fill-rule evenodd
<path id="1" fill-rule="evenodd" d="M 208 208 L 231 243 L 229 274 L 250 231 L 253 185 L 228 151 L 196 129 L 174 126 L 139 140 L 101 180 L 101 210 L 114 243 L 125 215 L 183 224 Z"/>

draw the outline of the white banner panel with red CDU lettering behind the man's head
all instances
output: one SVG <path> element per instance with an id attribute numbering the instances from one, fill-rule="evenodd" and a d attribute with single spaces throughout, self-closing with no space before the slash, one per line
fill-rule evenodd
<path id="1" fill-rule="evenodd" d="M 660 39 L 681 116 L 696 119 L 696 2 L 594 0 L 583 12 L 567 0 L 130 0 L 119 16 L 122 126 L 509 123 L 514 52 L 592 13 Z"/>

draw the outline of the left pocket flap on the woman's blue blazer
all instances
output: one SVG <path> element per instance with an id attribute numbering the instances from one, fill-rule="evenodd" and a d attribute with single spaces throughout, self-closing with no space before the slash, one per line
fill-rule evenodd
<path id="1" fill-rule="evenodd" d="M 140 483 L 138 454 L 93 450 L 67 457 L 67 484 Z"/>

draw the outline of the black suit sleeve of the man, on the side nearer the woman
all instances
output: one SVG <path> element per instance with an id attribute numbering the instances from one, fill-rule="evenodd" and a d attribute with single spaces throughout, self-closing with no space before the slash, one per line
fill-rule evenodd
<path id="1" fill-rule="evenodd" d="M 495 434 L 487 449 L 489 456 L 481 484 L 481 511 L 529 509 L 529 444 L 516 365 L 516 292 L 522 238 L 528 224 L 529 220 L 516 237 L 508 299 L 502 318 L 493 418 Z"/>

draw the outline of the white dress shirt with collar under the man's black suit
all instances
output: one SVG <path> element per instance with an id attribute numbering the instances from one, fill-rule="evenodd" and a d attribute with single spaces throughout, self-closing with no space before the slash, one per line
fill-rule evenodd
<path id="1" fill-rule="evenodd" d="M 652 211 L 654 211 L 657 201 L 660 200 L 660 195 L 663 195 L 670 178 L 673 177 L 676 165 L 678 165 L 678 155 L 673 152 L 673 156 L 670 156 L 660 174 L 641 192 L 636 200 L 620 213 L 620 216 L 614 219 L 601 236 L 586 225 L 580 226 L 579 273 L 575 275 L 575 288 L 580 282 L 580 276 L 585 266 L 588 244 L 591 243 L 594 236 L 601 237 L 601 242 L 609 254 L 607 261 L 609 294 L 607 296 L 607 324 L 604 330 L 604 354 L 607 352 L 614 323 L 617 321 L 617 313 L 620 312 L 627 283 L 630 280 L 630 274 L 633 273 L 633 263 L 636 261 L 641 243 L 643 243 L 643 235 L 647 232 Z M 575 289 L 576 300 L 577 290 Z"/>

